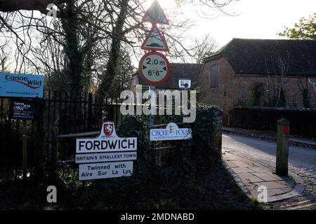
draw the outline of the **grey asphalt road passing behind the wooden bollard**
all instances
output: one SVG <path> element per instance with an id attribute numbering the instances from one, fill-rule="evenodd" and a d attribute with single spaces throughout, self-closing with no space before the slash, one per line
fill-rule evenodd
<path id="1" fill-rule="evenodd" d="M 251 155 L 253 158 L 275 162 L 277 145 L 273 141 L 223 134 L 223 151 L 235 151 Z M 290 145 L 289 166 L 316 169 L 316 151 Z"/>

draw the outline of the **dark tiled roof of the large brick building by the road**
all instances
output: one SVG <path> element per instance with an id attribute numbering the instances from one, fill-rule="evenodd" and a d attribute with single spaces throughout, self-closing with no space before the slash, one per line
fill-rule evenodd
<path id="1" fill-rule="evenodd" d="M 316 75 L 316 41 L 234 38 L 205 59 L 224 57 L 235 73 Z M 280 69 L 279 59 L 288 69 Z M 284 73 L 284 72 L 283 72 Z"/>

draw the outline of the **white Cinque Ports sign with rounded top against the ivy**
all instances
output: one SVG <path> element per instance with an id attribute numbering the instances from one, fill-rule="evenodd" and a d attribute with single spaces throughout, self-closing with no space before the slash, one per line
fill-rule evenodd
<path id="1" fill-rule="evenodd" d="M 170 123 L 165 129 L 150 130 L 150 141 L 171 141 L 192 139 L 190 128 L 179 128 L 175 123 Z"/>

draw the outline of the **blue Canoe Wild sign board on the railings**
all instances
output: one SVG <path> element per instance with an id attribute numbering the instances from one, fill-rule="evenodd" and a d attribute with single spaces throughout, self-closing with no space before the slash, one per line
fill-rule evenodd
<path id="1" fill-rule="evenodd" d="M 0 97 L 43 98 L 44 76 L 0 73 Z"/>

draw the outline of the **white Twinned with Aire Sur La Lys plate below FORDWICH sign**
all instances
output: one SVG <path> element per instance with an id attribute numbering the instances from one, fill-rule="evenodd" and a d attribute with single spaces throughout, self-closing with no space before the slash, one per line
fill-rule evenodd
<path id="1" fill-rule="evenodd" d="M 79 165 L 79 181 L 117 178 L 133 175 L 133 162 L 108 162 Z"/>

